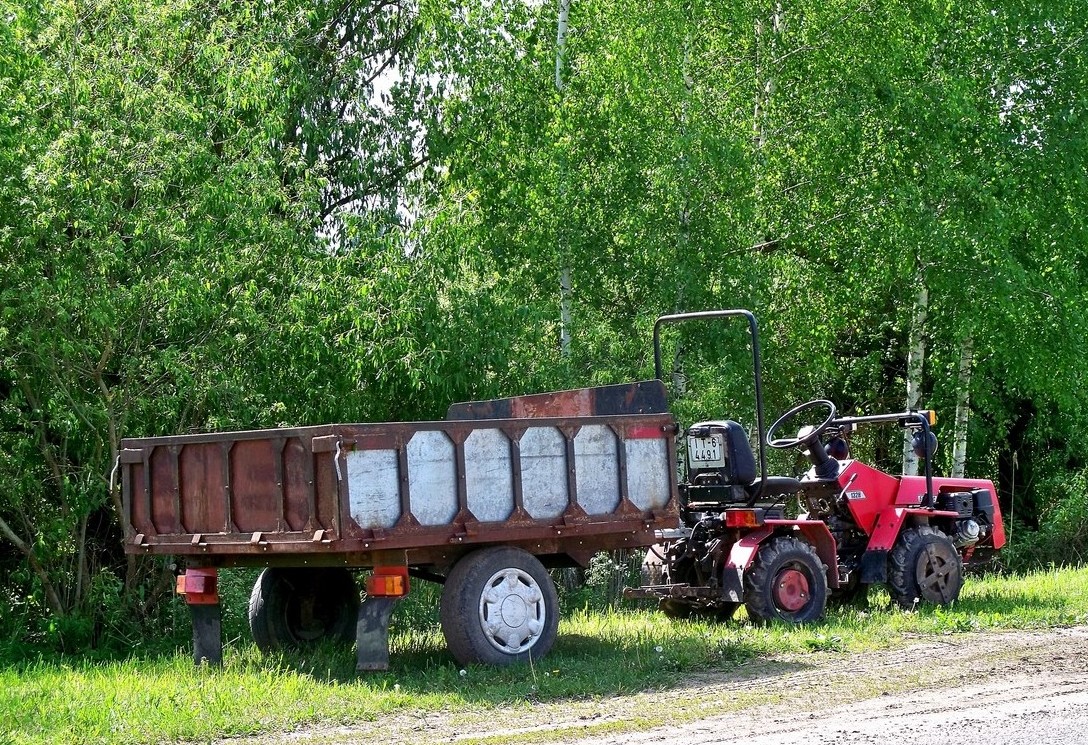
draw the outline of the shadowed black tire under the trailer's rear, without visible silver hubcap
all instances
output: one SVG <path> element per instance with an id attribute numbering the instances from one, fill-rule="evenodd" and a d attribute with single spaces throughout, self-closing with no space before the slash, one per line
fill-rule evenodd
<path id="1" fill-rule="evenodd" d="M 358 617 L 359 592 L 346 569 L 270 567 L 249 596 L 249 630 L 263 653 L 351 644 Z"/>

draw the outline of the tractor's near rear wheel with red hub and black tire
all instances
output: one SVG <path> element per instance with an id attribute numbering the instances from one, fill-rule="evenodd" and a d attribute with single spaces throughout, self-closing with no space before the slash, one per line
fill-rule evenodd
<path id="1" fill-rule="evenodd" d="M 744 575 L 744 607 L 756 623 L 807 623 L 827 607 L 827 568 L 799 538 L 771 538 Z"/>

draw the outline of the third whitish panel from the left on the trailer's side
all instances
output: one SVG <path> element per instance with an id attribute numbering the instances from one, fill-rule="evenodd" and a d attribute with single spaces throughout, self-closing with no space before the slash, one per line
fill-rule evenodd
<path id="1" fill-rule="evenodd" d="M 514 512 L 510 440 L 499 430 L 475 430 L 465 440 L 465 482 L 477 520 L 506 520 Z"/>

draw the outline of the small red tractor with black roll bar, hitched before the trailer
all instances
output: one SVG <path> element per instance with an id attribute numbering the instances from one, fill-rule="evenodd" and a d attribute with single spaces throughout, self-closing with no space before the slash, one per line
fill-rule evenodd
<path id="1" fill-rule="evenodd" d="M 658 380 L 664 324 L 737 315 L 747 319 L 751 334 L 758 456 L 734 421 L 688 427 L 681 526 L 660 535 L 646 557 L 647 584 L 627 596 L 657 598 L 671 617 L 727 619 L 743 603 L 754 621 L 796 623 L 819 619 L 829 596 L 845 599 L 869 584 L 887 584 L 904 608 L 954 601 L 964 564 L 1005 543 L 993 484 L 932 475 L 931 411 L 840 418 L 833 403 L 814 400 L 765 431 L 758 333 L 749 311 L 658 319 Z M 850 436 L 869 423 L 913 431 L 925 475 L 889 475 L 852 459 Z M 765 447 L 800 448 L 811 468 L 800 479 L 768 476 Z"/>

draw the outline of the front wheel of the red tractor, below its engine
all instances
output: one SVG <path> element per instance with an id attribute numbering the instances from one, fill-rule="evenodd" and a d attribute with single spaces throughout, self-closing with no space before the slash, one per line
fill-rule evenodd
<path id="1" fill-rule="evenodd" d="M 888 556 L 888 591 L 901 608 L 919 603 L 947 606 L 963 588 L 963 560 L 952 541 L 936 527 L 903 531 Z"/>

